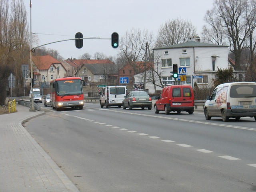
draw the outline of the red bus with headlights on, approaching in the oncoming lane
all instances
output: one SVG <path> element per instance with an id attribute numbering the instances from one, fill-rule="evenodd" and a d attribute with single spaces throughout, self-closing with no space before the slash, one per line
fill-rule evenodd
<path id="1" fill-rule="evenodd" d="M 82 109 L 84 106 L 84 80 L 80 77 L 64 77 L 50 82 L 51 107 L 57 111 L 72 107 Z"/>

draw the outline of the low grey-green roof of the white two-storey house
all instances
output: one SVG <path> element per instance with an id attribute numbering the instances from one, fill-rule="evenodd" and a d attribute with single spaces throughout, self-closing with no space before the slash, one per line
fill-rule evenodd
<path id="1" fill-rule="evenodd" d="M 158 48 L 154 48 L 153 50 L 174 49 L 174 48 L 190 48 L 190 47 L 228 47 L 228 46 L 189 41 L 189 42 L 179 43 L 179 44 L 170 45 L 170 46 L 158 47 Z"/>

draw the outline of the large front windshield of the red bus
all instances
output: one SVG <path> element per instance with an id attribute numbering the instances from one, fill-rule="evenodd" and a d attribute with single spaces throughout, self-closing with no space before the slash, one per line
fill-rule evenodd
<path id="1" fill-rule="evenodd" d="M 79 79 L 56 81 L 56 84 L 58 96 L 82 94 L 82 84 Z"/>

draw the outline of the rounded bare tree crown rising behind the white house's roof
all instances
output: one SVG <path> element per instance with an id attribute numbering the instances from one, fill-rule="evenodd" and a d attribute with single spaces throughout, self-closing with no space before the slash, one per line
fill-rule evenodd
<path id="1" fill-rule="evenodd" d="M 184 43 L 189 37 L 197 35 L 196 30 L 188 20 L 180 18 L 168 20 L 158 29 L 155 47 Z"/>

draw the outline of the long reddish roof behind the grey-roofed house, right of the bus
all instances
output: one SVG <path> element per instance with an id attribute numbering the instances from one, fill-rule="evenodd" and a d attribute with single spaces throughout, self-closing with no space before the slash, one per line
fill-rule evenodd
<path id="1" fill-rule="evenodd" d="M 67 59 L 64 60 L 66 63 L 70 64 L 75 69 L 81 67 L 84 64 L 114 64 L 109 59 Z"/>

